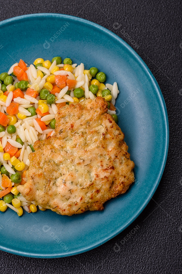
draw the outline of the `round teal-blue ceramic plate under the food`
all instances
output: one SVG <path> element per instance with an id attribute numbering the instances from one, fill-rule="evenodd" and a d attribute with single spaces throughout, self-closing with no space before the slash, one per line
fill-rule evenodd
<path id="1" fill-rule="evenodd" d="M 168 151 L 168 117 L 160 88 L 149 68 L 126 42 L 109 30 L 73 16 L 32 14 L 0 23 L 0 72 L 20 58 L 69 57 L 96 66 L 107 82 L 118 83 L 119 126 L 125 133 L 135 182 L 105 203 L 101 212 L 60 216 L 46 210 L 22 217 L 0 212 L 0 249 L 22 256 L 55 258 L 100 246 L 131 224 L 154 194 Z M 8 38 L 9 37 L 9 38 Z"/>

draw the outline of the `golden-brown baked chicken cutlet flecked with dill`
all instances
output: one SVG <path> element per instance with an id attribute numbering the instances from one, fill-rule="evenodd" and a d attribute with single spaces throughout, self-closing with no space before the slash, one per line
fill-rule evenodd
<path id="1" fill-rule="evenodd" d="M 126 192 L 134 162 L 107 110 L 107 101 L 97 97 L 57 112 L 54 134 L 35 142 L 27 182 L 17 187 L 27 201 L 72 215 L 102 210 L 107 200 Z"/>

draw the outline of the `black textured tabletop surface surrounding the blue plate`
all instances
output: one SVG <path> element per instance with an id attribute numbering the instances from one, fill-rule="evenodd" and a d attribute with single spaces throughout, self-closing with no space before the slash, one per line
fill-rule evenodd
<path id="1" fill-rule="evenodd" d="M 0 20 L 28 13 L 65 13 L 93 21 L 119 35 L 154 74 L 166 102 L 170 128 L 168 159 L 159 187 L 126 230 L 94 250 L 67 258 L 35 259 L 0 251 L 0 273 L 182 273 L 181 1 L 0 3 Z M 136 225 L 139 229 L 127 237 Z"/>

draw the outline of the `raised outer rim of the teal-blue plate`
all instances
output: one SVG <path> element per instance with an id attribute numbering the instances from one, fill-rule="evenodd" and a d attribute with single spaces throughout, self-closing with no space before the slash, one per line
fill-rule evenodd
<path id="1" fill-rule="evenodd" d="M 162 113 L 163 113 L 163 123 L 165 125 L 165 136 L 166 136 L 166 140 L 165 140 L 165 146 L 164 146 L 164 153 L 163 153 L 163 161 L 161 163 L 160 166 L 160 172 L 153 184 L 153 188 L 150 191 L 150 195 L 148 195 L 148 198 L 144 201 L 144 203 L 142 204 L 142 206 L 140 206 L 140 208 L 137 210 L 137 212 L 135 213 L 135 215 L 132 217 L 131 220 L 129 220 L 125 226 L 120 227 L 119 229 L 117 229 L 114 233 L 110 234 L 109 236 L 105 236 L 104 238 L 102 238 L 100 241 L 97 241 L 96 244 L 92 244 L 90 246 L 87 247 L 82 247 L 82 248 L 78 248 L 75 251 L 71 251 L 71 252 L 60 252 L 60 253 L 55 253 L 55 254 L 42 254 L 42 253 L 31 253 L 31 252 L 22 252 L 22 251 L 18 251 L 18 250 L 14 250 L 14 249 L 10 249 L 7 247 L 3 247 L 0 246 L 0 249 L 2 251 L 8 252 L 8 253 L 12 253 L 14 255 L 20 255 L 20 256 L 25 256 L 25 257 L 33 257 L 33 258 L 61 258 L 61 257 L 67 257 L 67 256 L 73 256 L 76 254 L 80 254 L 89 250 L 92 250 L 98 246 L 101 246 L 102 244 L 104 244 L 105 242 L 109 241 L 110 239 L 114 238 L 115 236 L 117 236 L 119 233 L 121 233 L 123 230 L 125 230 L 132 222 L 135 221 L 135 219 L 141 214 L 141 212 L 145 209 L 145 207 L 147 206 L 147 204 L 149 203 L 149 201 L 151 200 L 152 196 L 154 195 L 160 180 L 162 178 L 163 172 L 164 172 L 164 168 L 165 168 L 165 164 L 166 164 L 166 160 L 167 160 L 167 155 L 168 155 L 168 147 L 169 147 L 169 122 L 168 122 L 168 114 L 167 114 L 167 109 L 166 109 L 166 104 L 162 95 L 162 92 L 160 90 L 160 87 L 155 79 L 155 77 L 153 76 L 152 72 L 150 71 L 150 69 L 148 68 L 148 66 L 145 64 L 145 62 L 142 60 L 142 58 L 138 55 L 138 53 L 135 52 L 135 50 L 129 46 L 122 38 L 120 38 L 118 35 L 116 35 L 115 33 L 111 32 L 110 30 L 108 30 L 107 28 L 96 24 L 94 22 L 91 22 L 89 20 L 80 18 L 80 17 L 76 17 L 76 16 L 72 16 L 72 15 L 66 15 L 66 14 L 61 14 L 61 13 L 33 13 L 33 14 L 26 14 L 26 15 L 21 15 L 21 16 L 16 16 L 16 17 L 12 17 L 6 20 L 3 20 L 0 22 L 0 27 L 11 23 L 11 22 L 15 22 L 18 21 L 19 19 L 27 19 L 27 18 L 34 18 L 34 17 L 61 17 L 61 18 L 68 18 L 74 21 L 79 21 L 83 24 L 87 24 L 87 25 L 92 25 L 93 27 L 97 28 L 98 30 L 104 31 L 105 33 L 107 33 L 108 35 L 113 36 L 114 39 L 117 39 L 117 41 L 119 41 L 125 48 L 127 48 L 127 50 L 130 52 L 130 54 L 133 56 L 133 58 L 135 58 L 135 60 L 138 62 L 138 64 L 141 65 L 142 70 L 144 70 L 145 72 L 148 72 L 149 76 L 150 76 L 150 81 L 154 86 L 154 89 L 156 90 L 157 93 L 157 98 L 159 99 L 159 105 L 161 107 Z"/>

